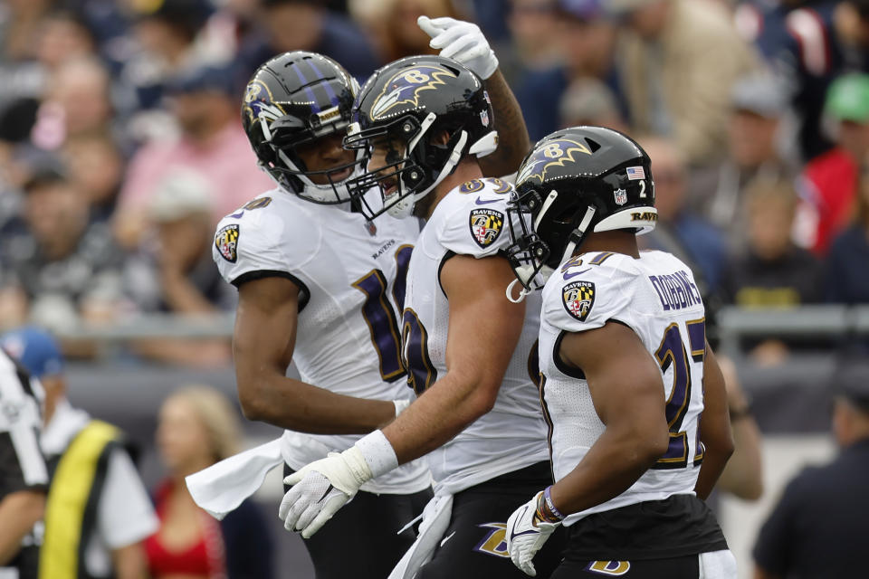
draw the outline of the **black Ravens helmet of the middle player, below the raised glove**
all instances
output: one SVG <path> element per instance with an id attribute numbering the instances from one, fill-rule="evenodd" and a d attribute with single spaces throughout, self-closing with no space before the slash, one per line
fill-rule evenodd
<path id="1" fill-rule="evenodd" d="M 349 182 L 363 214 L 405 217 L 417 201 L 450 175 L 465 155 L 483 157 L 498 146 L 492 103 L 480 78 L 452 59 L 410 56 L 377 70 L 359 91 L 344 146 L 373 150 L 378 139 L 400 143 L 387 165 Z M 431 138 L 447 131 L 445 144 Z M 366 193 L 378 186 L 383 206 Z"/>

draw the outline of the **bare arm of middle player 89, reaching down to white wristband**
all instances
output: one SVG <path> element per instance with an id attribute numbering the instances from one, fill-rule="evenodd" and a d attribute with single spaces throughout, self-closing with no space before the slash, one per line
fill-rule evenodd
<path id="1" fill-rule="evenodd" d="M 457 255 L 444 264 L 447 374 L 383 430 L 399 464 L 434 451 L 492 410 L 525 320 L 525 305 L 504 299 L 513 279 L 501 257 Z"/>

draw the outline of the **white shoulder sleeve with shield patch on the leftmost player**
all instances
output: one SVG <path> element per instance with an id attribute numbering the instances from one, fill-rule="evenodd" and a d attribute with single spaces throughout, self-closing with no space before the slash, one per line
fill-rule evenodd
<path id="1" fill-rule="evenodd" d="M 268 192 L 224 217 L 217 224 L 212 256 L 224 280 L 235 286 L 281 276 L 296 282 L 301 300 L 306 300 L 309 291 L 302 271 L 322 242 L 321 226 L 315 219 L 295 219 L 289 226 L 282 214 L 286 204 L 275 203 L 274 195 L 287 194 Z"/>

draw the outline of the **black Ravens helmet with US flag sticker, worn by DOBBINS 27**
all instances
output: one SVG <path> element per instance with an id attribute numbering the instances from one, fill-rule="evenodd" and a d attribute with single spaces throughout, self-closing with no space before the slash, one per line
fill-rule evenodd
<path id="1" fill-rule="evenodd" d="M 507 257 L 525 292 L 543 281 L 589 232 L 648 233 L 657 223 L 649 156 L 634 139 L 603 127 L 574 127 L 540 139 L 522 161 L 507 208 Z"/>

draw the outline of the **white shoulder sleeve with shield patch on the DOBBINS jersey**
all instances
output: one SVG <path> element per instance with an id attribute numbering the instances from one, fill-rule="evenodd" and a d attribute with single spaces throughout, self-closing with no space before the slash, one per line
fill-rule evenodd
<path id="1" fill-rule="evenodd" d="M 630 286 L 625 255 L 583 253 L 566 261 L 543 293 L 543 318 L 568 332 L 602 327 L 609 320 L 630 323 Z M 552 294 L 558 293 L 558 296 Z"/>

